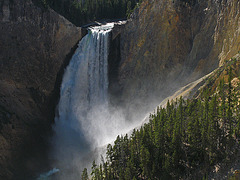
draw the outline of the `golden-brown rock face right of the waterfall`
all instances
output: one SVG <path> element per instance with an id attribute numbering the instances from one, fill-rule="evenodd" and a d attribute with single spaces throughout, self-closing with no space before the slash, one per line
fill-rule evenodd
<path id="1" fill-rule="evenodd" d="M 120 42 L 122 100 L 146 109 L 240 50 L 240 1 L 145 0 Z"/>

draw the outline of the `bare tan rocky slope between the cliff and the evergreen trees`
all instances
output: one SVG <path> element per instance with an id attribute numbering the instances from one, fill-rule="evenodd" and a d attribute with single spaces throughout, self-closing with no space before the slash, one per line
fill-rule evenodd
<path id="1" fill-rule="evenodd" d="M 176 99 L 180 99 L 181 97 L 184 100 L 188 99 L 197 99 L 201 96 L 203 91 L 209 90 L 210 94 L 216 92 L 216 88 L 220 84 L 220 80 L 224 79 L 225 83 L 228 82 L 228 70 L 229 67 L 233 69 L 232 76 L 233 80 L 231 81 L 233 88 L 236 88 L 240 82 L 240 54 L 236 54 L 231 59 L 228 59 L 222 66 L 216 68 L 209 74 L 193 81 L 186 86 L 179 88 L 173 94 L 170 94 L 167 98 L 165 98 L 161 103 L 151 111 L 151 114 L 157 111 L 158 107 L 165 108 L 167 106 L 167 102 L 176 101 Z M 146 116 L 143 120 L 143 123 L 149 122 L 149 116 Z"/>

